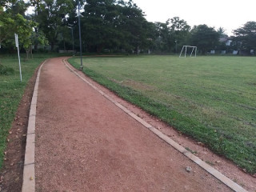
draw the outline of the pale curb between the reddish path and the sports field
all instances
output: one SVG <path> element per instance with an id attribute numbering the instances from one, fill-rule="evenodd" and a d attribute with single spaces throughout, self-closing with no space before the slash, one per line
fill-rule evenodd
<path id="1" fill-rule="evenodd" d="M 81 78 L 83 82 L 86 82 L 88 85 L 94 88 L 94 90 L 98 91 L 99 94 L 102 94 L 102 96 L 110 100 L 110 102 L 113 102 L 114 105 L 118 106 L 119 109 L 126 112 L 126 114 L 129 114 L 130 117 L 140 122 L 143 126 L 145 126 L 147 129 L 152 131 L 159 138 L 162 138 L 162 140 L 167 142 L 170 146 L 173 146 L 174 149 L 184 154 L 187 158 L 190 158 L 191 161 L 198 164 L 198 166 L 202 167 L 202 169 L 206 170 L 209 174 L 213 175 L 215 178 L 217 178 L 219 181 L 224 183 L 226 186 L 230 187 L 230 189 L 236 192 L 247 191 L 243 189 L 242 186 L 239 186 L 236 182 L 233 182 L 230 178 L 227 178 L 224 174 L 220 173 L 218 170 L 215 170 L 214 167 L 202 161 L 202 159 L 190 153 L 190 151 L 186 150 L 183 146 L 180 146 L 177 142 L 174 142 L 174 140 L 166 136 L 166 134 L 163 134 L 161 131 L 157 130 L 154 126 L 151 126 L 149 123 L 145 122 L 142 118 L 139 118 L 136 114 L 128 110 L 125 106 L 122 106 L 120 103 L 116 102 L 113 98 L 110 98 L 109 95 L 105 94 L 102 90 L 98 89 L 98 87 L 94 86 L 91 82 L 87 81 L 86 78 L 83 78 L 80 74 L 74 71 L 73 68 L 70 66 L 70 64 L 66 61 L 66 59 L 63 59 L 63 62 L 65 63 L 66 67 L 70 69 L 70 71 L 73 72 L 75 75 L 77 75 L 78 78 Z"/>

